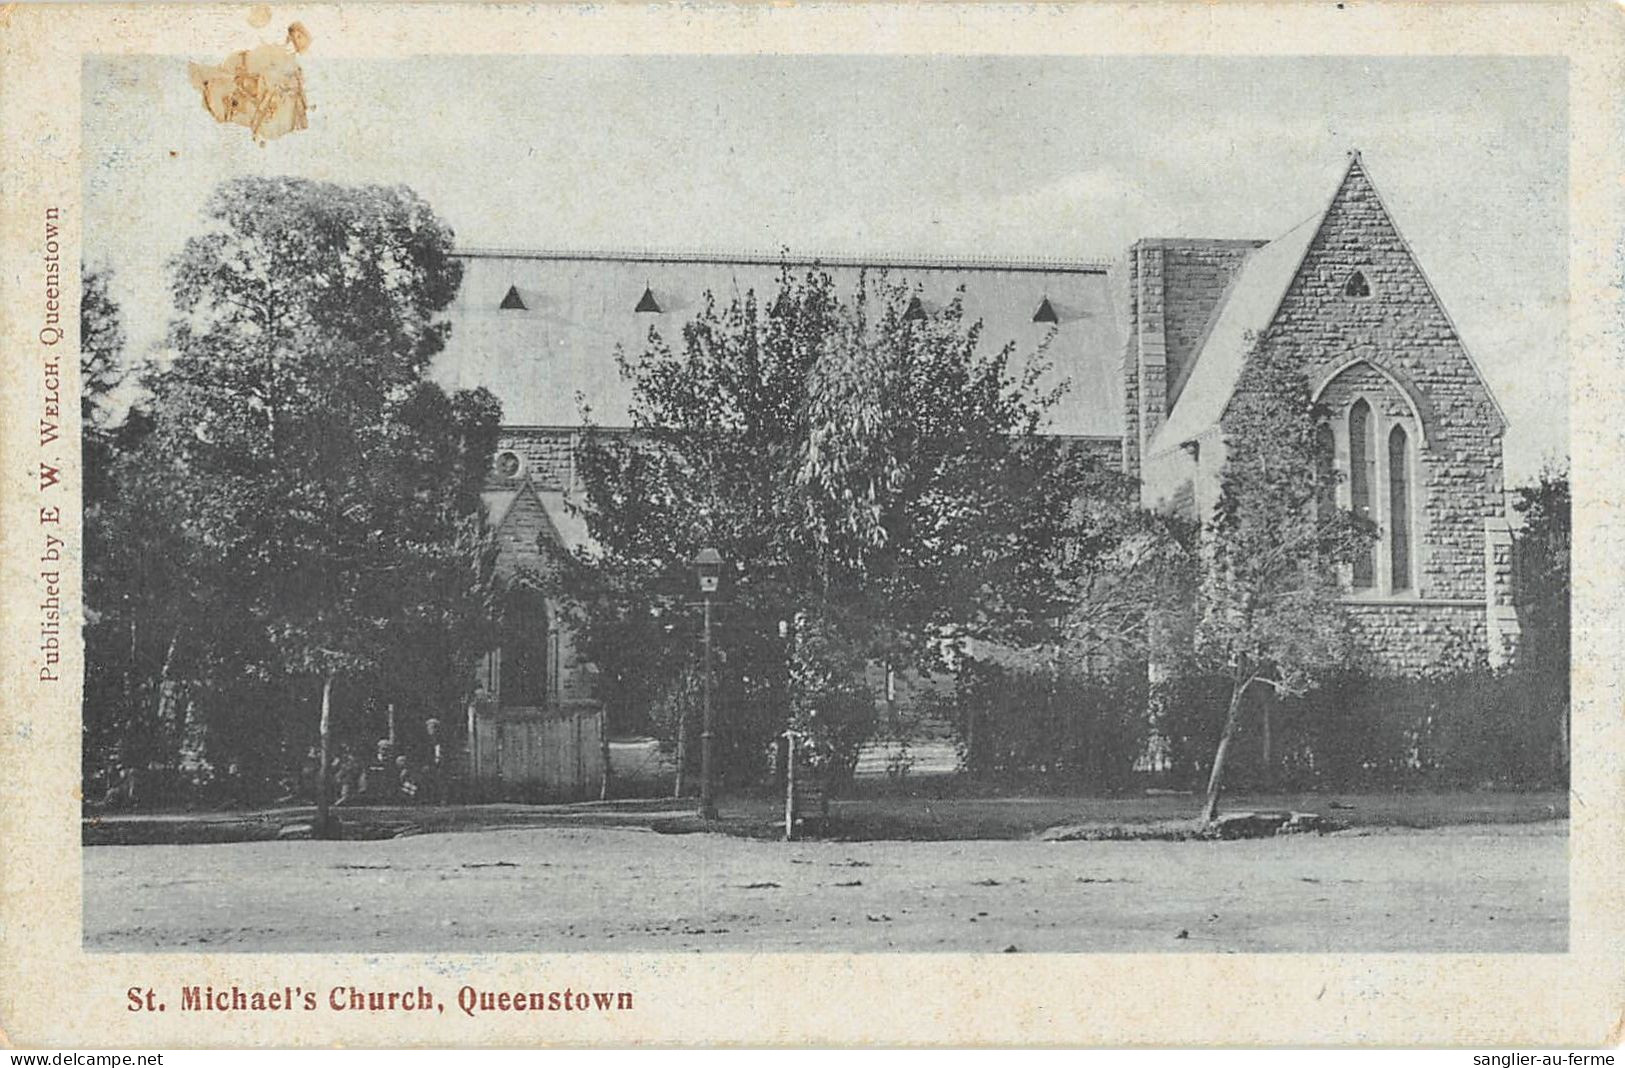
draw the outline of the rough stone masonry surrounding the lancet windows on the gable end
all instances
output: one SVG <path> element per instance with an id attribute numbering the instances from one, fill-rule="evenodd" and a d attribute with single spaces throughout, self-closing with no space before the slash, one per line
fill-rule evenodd
<path id="1" fill-rule="evenodd" d="M 1370 296 L 1344 294 L 1355 270 L 1365 275 Z M 1264 343 L 1290 346 L 1311 385 L 1324 387 L 1323 402 L 1336 418 L 1365 395 L 1381 428 L 1420 418 L 1425 431 L 1425 444 L 1420 434 L 1412 434 L 1410 442 L 1417 588 L 1376 588 L 1350 600 L 1367 649 L 1378 662 L 1406 671 L 1427 666 L 1451 642 L 1493 653 L 1487 634 L 1485 523 L 1505 509 L 1505 426 L 1358 159 L 1332 198 Z M 1415 403 L 1415 416 L 1404 397 Z M 1347 470 L 1347 428 L 1339 429 L 1339 460 Z M 1376 457 L 1386 465 L 1386 436 L 1378 441 Z"/>

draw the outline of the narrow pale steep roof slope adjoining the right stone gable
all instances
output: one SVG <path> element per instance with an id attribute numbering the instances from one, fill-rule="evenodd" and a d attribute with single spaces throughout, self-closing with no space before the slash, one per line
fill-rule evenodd
<path id="1" fill-rule="evenodd" d="M 1196 366 L 1180 392 L 1180 402 L 1152 437 L 1152 455 L 1191 441 L 1224 415 L 1253 338 L 1276 319 L 1287 286 L 1297 278 L 1324 216 L 1321 211 L 1303 219 L 1250 255 L 1237 271 L 1224 306 L 1198 346 Z"/>

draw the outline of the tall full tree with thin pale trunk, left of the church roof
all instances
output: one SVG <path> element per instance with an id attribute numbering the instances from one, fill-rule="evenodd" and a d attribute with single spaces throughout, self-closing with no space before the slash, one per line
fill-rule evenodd
<path id="1" fill-rule="evenodd" d="M 318 688 L 327 827 L 335 684 L 466 686 L 489 619 L 479 489 L 500 408 L 424 377 L 462 267 L 413 192 L 234 179 L 205 216 L 171 263 L 153 447 L 179 538 L 214 579 L 205 629 L 249 639 L 239 670 Z"/>

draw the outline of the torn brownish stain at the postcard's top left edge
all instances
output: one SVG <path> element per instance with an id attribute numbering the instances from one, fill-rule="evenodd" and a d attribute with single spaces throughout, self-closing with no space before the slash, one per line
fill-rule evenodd
<path id="1" fill-rule="evenodd" d="M 270 10 L 265 11 L 270 21 Z M 250 15 L 250 21 L 255 16 Z M 304 130 L 304 72 L 299 54 L 310 47 L 310 33 L 299 23 L 288 26 L 283 44 L 262 44 L 232 52 L 219 67 L 188 63 L 192 86 L 203 94 L 203 107 L 214 122 L 249 127 L 254 140 L 270 141 Z"/>

